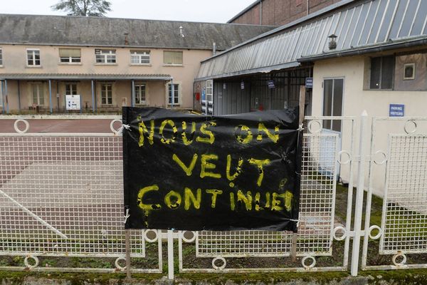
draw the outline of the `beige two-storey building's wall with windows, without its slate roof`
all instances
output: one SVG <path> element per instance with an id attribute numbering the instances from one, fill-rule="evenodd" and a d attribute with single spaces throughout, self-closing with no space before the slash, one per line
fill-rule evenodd
<path id="1" fill-rule="evenodd" d="M 76 62 L 61 62 L 64 50 L 80 56 L 72 59 Z M 81 95 L 83 110 L 89 111 L 117 111 L 130 105 L 170 108 L 172 82 L 174 107 L 191 109 L 193 79 L 200 61 L 211 55 L 203 50 L 36 45 L 2 45 L 1 51 L 0 77 L 4 78 L 3 93 L 7 91 L 3 105 L 11 113 L 36 108 L 62 112 L 65 95 Z M 36 64 L 28 64 L 30 51 L 39 54 Z M 115 63 L 97 62 L 97 51 L 108 51 Z M 135 53 L 143 53 L 144 61 Z M 171 54 L 177 61 L 165 62 Z"/>

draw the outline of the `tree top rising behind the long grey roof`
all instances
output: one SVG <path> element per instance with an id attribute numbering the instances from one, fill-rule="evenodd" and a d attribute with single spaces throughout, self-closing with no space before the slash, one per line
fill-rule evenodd
<path id="1" fill-rule="evenodd" d="M 68 16 L 100 16 L 111 11 L 111 3 L 108 0 L 60 0 L 51 6 L 53 10 L 63 10 Z"/>

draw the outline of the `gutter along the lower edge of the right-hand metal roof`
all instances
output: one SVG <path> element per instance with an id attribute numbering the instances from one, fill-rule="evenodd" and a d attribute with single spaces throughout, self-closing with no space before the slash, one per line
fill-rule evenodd
<path id="1" fill-rule="evenodd" d="M 322 59 L 329 59 L 329 58 L 339 58 L 343 56 L 359 56 L 366 53 L 377 53 L 381 51 L 390 51 L 396 48 L 411 48 L 413 46 L 422 46 L 427 45 L 427 38 L 418 38 L 414 39 L 412 41 L 404 41 L 399 43 L 389 43 L 386 45 L 381 46 L 371 46 L 366 48 L 358 48 L 358 49 L 352 49 L 349 51 L 341 51 L 337 53 L 326 53 L 322 54 L 320 56 L 307 56 L 304 58 L 298 58 L 297 62 L 299 63 L 306 63 L 310 61 L 320 61 Z"/>

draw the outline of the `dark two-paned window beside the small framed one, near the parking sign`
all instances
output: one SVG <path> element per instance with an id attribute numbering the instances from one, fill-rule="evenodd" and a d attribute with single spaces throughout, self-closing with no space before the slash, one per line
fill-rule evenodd
<path id="1" fill-rule="evenodd" d="M 394 56 L 371 58 L 371 89 L 393 88 Z"/>

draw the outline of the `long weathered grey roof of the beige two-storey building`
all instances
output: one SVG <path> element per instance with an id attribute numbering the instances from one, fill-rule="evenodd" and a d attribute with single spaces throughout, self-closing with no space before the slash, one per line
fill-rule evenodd
<path id="1" fill-rule="evenodd" d="M 184 37 L 180 35 L 182 26 Z M 0 14 L 0 43 L 62 46 L 190 48 L 223 51 L 273 26 L 84 16 Z"/>

